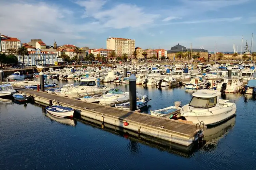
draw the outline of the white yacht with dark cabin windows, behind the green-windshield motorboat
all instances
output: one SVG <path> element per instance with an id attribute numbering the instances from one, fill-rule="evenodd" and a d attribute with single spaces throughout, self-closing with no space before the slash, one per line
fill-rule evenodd
<path id="1" fill-rule="evenodd" d="M 82 79 L 78 86 L 74 87 L 73 84 L 66 84 L 60 89 L 59 92 L 55 92 L 55 93 L 56 95 L 59 95 L 59 96 L 75 98 L 75 97 L 105 93 L 110 89 L 111 89 L 110 87 L 98 87 L 96 85 L 95 79 L 86 78 L 86 79 Z"/>

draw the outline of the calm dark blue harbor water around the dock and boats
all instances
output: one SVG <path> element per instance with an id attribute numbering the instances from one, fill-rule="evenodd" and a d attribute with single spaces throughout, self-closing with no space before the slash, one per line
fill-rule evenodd
<path id="1" fill-rule="evenodd" d="M 128 84 L 104 85 L 129 91 Z M 137 90 L 152 98 L 145 114 L 174 101 L 187 104 L 193 93 L 184 87 L 137 85 Z M 205 131 L 204 142 L 190 148 L 164 146 L 107 125 L 102 129 L 86 118 L 60 119 L 36 104 L 1 101 L 0 169 L 255 169 L 256 98 L 226 94 L 226 99 L 236 102 L 237 116 Z"/>

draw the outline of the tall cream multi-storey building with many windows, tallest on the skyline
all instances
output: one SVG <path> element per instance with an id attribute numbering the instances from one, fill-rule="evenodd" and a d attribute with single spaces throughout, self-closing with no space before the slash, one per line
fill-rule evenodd
<path id="1" fill-rule="evenodd" d="M 135 50 L 135 40 L 110 37 L 106 40 L 106 49 L 115 50 L 116 57 L 127 54 L 129 58 L 132 58 L 132 53 Z"/>

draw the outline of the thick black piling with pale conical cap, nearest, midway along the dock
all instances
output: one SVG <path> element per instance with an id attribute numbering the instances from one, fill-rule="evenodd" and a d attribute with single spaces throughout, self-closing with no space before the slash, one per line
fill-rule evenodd
<path id="1" fill-rule="evenodd" d="M 129 77 L 129 95 L 130 95 L 130 111 L 137 109 L 137 92 L 136 92 L 136 76 L 131 74 Z"/>

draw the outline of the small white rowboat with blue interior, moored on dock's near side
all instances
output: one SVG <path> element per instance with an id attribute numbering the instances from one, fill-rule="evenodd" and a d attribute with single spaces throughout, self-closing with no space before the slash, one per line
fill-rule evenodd
<path id="1" fill-rule="evenodd" d="M 63 106 L 48 106 L 45 108 L 47 112 L 58 117 L 73 117 L 74 109 Z"/>

